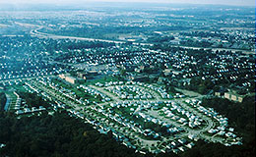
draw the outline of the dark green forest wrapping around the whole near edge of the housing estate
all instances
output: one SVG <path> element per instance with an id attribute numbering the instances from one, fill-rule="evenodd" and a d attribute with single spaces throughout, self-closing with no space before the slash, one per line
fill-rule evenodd
<path id="1" fill-rule="evenodd" d="M 184 153 L 178 155 L 160 153 L 155 156 L 255 156 L 254 97 L 247 97 L 242 103 L 222 98 L 205 98 L 202 105 L 213 107 L 227 117 L 229 126 L 243 137 L 243 144 L 226 147 L 219 143 L 207 143 L 200 140 L 196 142 L 194 148 Z M 21 119 L 17 119 L 10 113 L 1 112 L 0 143 L 6 144 L 6 147 L 0 149 L 0 156 L 144 156 L 118 143 L 110 132 L 100 134 L 91 125 L 83 123 L 81 119 L 70 117 L 66 112 L 57 112 L 53 116 L 43 113 L 39 117 Z M 146 156 L 154 155 L 147 154 Z"/>

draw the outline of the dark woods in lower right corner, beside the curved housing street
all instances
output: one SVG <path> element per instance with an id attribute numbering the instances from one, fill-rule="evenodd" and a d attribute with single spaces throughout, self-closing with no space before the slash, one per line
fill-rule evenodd
<path id="1" fill-rule="evenodd" d="M 255 156 L 255 98 L 247 97 L 242 103 L 235 103 L 222 98 L 205 98 L 203 106 L 213 107 L 217 112 L 228 118 L 229 126 L 233 127 L 243 138 L 240 146 L 224 146 L 219 143 L 196 142 L 182 156 L 186 157 L 253 157 Z"/>

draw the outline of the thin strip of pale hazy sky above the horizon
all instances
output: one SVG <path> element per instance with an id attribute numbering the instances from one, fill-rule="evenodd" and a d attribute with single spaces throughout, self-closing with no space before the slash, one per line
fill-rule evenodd
<path id="1" fill-rule="evenodd" d="M 187 4 L 223 4 L 237 6 L 254 6 L 255 0 L 0 0 L 0 3 L 86 3 L 86 2 L 151 2 L 151 3 L 187 3 Z"/>

